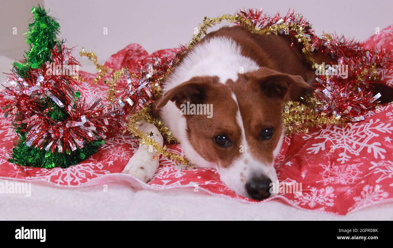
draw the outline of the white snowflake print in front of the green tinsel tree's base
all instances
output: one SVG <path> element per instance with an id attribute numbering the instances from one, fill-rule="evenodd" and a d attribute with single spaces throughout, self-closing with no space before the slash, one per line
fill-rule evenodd
<path id="1" fill-rule="evenodd" d="M 103 169 L 101 162 L 80 163 L 66 169 L 55 167 L 52 169 L 42 168 L 35 176 L 28 176 L 27 179 L 40 178 L 41 180 L 52 182 L 57 185 L 79 186 L 84 182 L 110 173 Z"/>

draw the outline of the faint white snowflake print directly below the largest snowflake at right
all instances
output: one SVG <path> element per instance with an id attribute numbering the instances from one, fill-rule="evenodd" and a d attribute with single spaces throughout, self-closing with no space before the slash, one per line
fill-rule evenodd
<path id="1" fill-rule="evenodd" d="M 327 184 L 353 184 L 360 178 L 360 174 L 362 172 L 359 170 L 359 165 L 363 163 L 354 163 L 348 165 L 334 165 L 334 162 L 330 164 L 328 161 L 327 165 L 321 164 L 324 169 L 323 172 L 320 172 L 322 175 L 322 180 L 316 181 L 316 183 L 323 182 L 323 185 Z"/>

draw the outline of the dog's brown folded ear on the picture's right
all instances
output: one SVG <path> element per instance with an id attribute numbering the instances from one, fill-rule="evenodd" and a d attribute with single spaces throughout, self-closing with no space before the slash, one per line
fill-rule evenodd
<path id="1" fill-rule="evenodd" d="M 309 88 L 301 76 L 260 68 L 256 72 L 245 73 L 249 81 L 256 83 L 267 96 L 284 98 L 290 85 Z"/>

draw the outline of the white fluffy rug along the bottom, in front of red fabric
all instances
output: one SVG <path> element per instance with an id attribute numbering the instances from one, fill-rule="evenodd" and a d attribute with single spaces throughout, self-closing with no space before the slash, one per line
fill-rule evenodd
<path id="1" fill-rule="evenodd" d="M 337 217 L 275 200 L 245 204 L 193 188 L 134 190 L 127 183 L 113 182 L 107 189 L 33 183 L 30 197 L 0 194 L 0 220 L 393 220 L 392 203 Z"/>

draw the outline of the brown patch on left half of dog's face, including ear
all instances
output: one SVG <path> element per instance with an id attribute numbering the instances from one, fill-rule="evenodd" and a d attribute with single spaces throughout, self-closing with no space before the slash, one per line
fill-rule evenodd
<path id="1" fill-rule="evenodd" d="M 241 130 L 237 125 L 237 104 L 231 96 L 228 85 L 219 82 L 218 77 L 193 77 L 189 81 L 169 90 L 156 103 L 163 107 L 167 101 L 182 104 L 205 104 L 212 106 L 212 116 L 186 114 L 187 135 L 194 150 L 205 160 L 218 167 L 228 167 L 239 156 Z M 231 145 L 222 147 L 215 143 L 216 136 L 230 137 Z"/>

